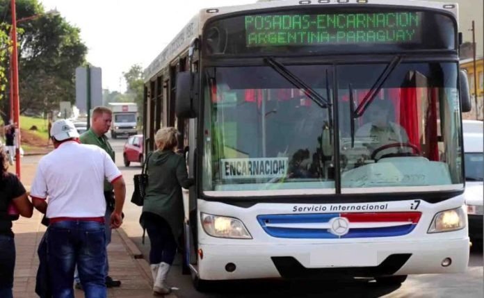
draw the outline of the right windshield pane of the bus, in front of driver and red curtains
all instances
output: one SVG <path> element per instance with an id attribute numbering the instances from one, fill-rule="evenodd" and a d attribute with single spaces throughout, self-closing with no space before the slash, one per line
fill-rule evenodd
<path id="1" fill-rule="evenodd" d="M 359 106 L 386 66 L 337 67 L 341 192 L 460 188 L 457 65 L 399 65 L 366 110 L 352 119 L 350 98 Z"/>

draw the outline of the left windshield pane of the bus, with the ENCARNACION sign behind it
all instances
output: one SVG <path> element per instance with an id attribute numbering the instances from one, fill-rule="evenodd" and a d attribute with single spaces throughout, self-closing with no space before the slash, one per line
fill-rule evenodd
<path id="1" fill-rule="evenodd" d="M 287 69 L 328 96 L 327 66 Z M 204 93 L 205 190 L 334 193 L 330 108 L 267 66 L 207 69 Z"/>

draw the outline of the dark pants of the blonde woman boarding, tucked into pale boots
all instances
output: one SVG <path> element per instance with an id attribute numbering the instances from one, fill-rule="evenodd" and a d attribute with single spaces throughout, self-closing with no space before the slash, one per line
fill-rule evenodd
<path id="1" fill-rule="evenodd" d="M 170 225 L 163 217 L 150 212 L 143 213 L 143 220 L 151 242 L 150 264 L 164 262 L 172 265 L 177 252 L 177 242 Z"/>

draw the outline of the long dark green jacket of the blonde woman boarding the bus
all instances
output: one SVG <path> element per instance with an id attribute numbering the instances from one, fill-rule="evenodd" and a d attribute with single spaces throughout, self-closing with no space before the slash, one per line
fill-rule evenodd
<path id="1" fill-rule="evenodd" d="M 143 212 L 163 217 L 178 241 L 184 220 L 181 187 L 189 188 L 193 185 L 193 180 L 188 178 L 186 172 L 185 159 L 171 150 L 154 151 L 147 163 L 149 178 Z"/>

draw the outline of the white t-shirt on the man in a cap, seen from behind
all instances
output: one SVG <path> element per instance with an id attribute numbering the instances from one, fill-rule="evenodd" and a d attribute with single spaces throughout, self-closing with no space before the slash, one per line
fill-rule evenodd
<path id="1" fill-rule="evenodd" d="M 121 172 L 103 149 L 64 142 L 42 157 L 31 186 L 31 197 L 47 199 L 47 217 L 104 217 L 104 178 Z"/>

